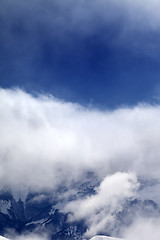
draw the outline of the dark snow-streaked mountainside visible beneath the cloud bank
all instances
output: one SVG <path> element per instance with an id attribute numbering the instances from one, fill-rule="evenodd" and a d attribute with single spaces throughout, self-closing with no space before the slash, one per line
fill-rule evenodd
<path id="1" fill-rule="evenodd" d="M 121 209 L 114 213 L 115 222 L 99 231 L 94 237 L 86 238 L 87 221 L 80 219 L 68 221 L 69 213 L 64 212 L 66 203 L 86 196 L 94 196 L 97 180 L 93 176 L 85 182 L 77 183 L 72 189 L 59 188 L 55 192 L 28 193 L 25 199 L 17 198 L 9 190 L 0 191 L 0 234 L 5 236 L 14 230 L 18 235 L 23 233 L 48 234 L 52 240 L 120 240 L 107 236 L 122 236 L 123 229 L 132 224 L 137 214 L 145 217 L 156 216 L 160 213 L 159 201 L 149 199 L 149 191 L 159 189 L 159 183 L 142 181 L 140 195 L 123 202 Z M 147 190 L 145 190 L 147 189 Z M 148 191 L 149 189 L 149 191 Z M 144 193 L 144 194 L 143 194 Z M 147 196 L 148 193 L 148 196 Z M 11 235 L 7 235 L 12 239 Z M 1 240 L 1 238 L 0 238 Z"/>

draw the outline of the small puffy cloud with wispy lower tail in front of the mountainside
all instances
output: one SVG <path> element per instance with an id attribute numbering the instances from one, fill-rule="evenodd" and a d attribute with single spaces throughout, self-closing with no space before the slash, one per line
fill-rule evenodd
<path id="1" fill-rule="evenodd" d="M 134 174 L 119 172 L 107 176 L 95 195 L 70 202 L 64 211 L 71 212 L 70 221 L 85 219 L 88 226 L 86 236 L 94 236 L 114 225 L 114 213 L 121 210 L 126 199 L 135 196 L 137 188 Z"/>

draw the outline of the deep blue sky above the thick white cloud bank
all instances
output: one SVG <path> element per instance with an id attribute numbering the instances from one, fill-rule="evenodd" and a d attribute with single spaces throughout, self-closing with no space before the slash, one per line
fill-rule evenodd
<path id="1" fill-rule="evenodd" d="M 152 14 L 126 1 L 58 1 L 1 0 L 0 86 L 98 107 L 157 102 Z"/>

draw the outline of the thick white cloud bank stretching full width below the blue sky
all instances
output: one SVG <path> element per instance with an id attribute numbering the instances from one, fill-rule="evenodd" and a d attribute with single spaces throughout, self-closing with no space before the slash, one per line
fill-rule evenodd
<path id="1" fill-rule="evenodd" d="M 1 89 L 0 116 L 1 187 L 54 189 L 87 171 L 160 175 L 159 106 L 99 111 Z"/>

